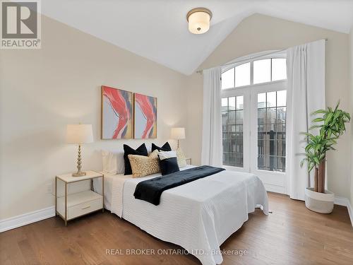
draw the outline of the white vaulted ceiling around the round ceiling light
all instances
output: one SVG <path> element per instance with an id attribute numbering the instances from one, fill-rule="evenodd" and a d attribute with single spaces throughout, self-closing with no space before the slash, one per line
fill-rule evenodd
<path id="1" fill-rule="evenodd" d="M 213 12 L 193 35 L 186 13 Z M 348 33 L 353 0 L 44 0 L 42 13 L 159 64 L 191 74 L 247 16 L 263 13 Z"/>

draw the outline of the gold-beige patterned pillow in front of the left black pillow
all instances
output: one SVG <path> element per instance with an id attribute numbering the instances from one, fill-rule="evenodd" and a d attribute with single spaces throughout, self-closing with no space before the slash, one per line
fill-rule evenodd
<path id="1" fill-rule="evenodd" d="M 155 150 L 150 155 L 128 155 L 131 164 L 133 177 L 145 177 L 160 172 L 158 151 Z"/>

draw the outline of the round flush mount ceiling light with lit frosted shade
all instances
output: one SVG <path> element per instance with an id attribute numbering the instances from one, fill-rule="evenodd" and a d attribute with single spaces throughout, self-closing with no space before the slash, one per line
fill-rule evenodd
<path id="1" fill-rule="evenodd" d="M 207 8 L 193 8 L 186 15 L 189 22 L 189 31 L 193 34 L 203 34 L 210 29 L 212 12 Z"/>

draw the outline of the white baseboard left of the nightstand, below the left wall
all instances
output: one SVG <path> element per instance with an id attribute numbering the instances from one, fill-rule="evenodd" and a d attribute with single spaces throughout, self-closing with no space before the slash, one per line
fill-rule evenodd
<path id="1" fill-rule="evenodd" d="M 13 216 L 11 218 L 3 219 L 0 220 L 0 232 L 11 230 L 13 228 L 19 228 L 20 226 L 35 223 L 53 216 L 55 216 L 55 207 L 50 206 L 41 210 L 32 211 L 31 213 L 24 213 L 20 216 Z"/>

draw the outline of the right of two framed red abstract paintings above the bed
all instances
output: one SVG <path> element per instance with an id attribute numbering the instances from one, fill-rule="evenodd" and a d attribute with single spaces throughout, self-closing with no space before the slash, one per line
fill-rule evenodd
<path id="1" fill-rule="evenodd" d="M 134 95 L 134 138 L 157 138 L 157 98 L 138 93 Z"/>

